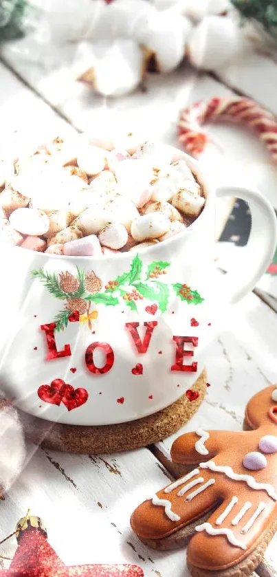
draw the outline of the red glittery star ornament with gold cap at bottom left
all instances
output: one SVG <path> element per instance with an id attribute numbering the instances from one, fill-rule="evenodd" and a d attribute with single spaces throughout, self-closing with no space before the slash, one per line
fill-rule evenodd
<path id="1" fill-rule="evenodd" d="M 143 577 L 137 565 L 75 565 L 67 567 L 47 541 L 39 517 L 27 513 L 16 525 L 17 549 L 0 577 Z"/>

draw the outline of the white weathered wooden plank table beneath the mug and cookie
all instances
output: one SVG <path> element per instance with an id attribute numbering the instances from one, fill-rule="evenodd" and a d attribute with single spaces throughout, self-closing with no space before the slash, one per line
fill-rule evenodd
<path id="1" fill-rule="evenodd" d="M 176 144 L 179 109 L 201 98 L 232 94 L 228 85 L 277 113 L 276 100 L 262 87 L 264 76 L 256 82 L 255 90 L 253 62 L 249 83 L 245 63 L 236 71 L 219 71 L 222 81 L 197 75 L 184 66 L 166 78 L 151 76 L 146 92 L 105 102 L 76 85 L 66 69 L 45 75 L 43 69 L 30 66 L 9 47 L 3 49 L 2 58 L 0 150 L 11 133 L 30 135 L 32 131 L 43 140 L 60 131 L 93 132 L 100 122 L 106 122 L 106 127 L 107 122 L 118 123 L 127 131 L 140 129 L 146 138 Z M 257 62 L 257 70 L 263 74 L 267 67 L 272 85 L 276 85 L 277 65 L 266 61 L 264 67 L 265 63 Z M 215 184 L 257 184 L 276 206 L 277 169 L 262 144 L 239 127 L 213 126 L 209 133 L 220 150 L 212 146 L 201 163 L 212 173 Z M 232 309 L 224 331 L 210 346 L 207 368 L 211 386 L 201 409 L 181 433 L 199 425 L 241 429 L 247 400 L 277 381 L 276 351 L 276 312 L 252 292 Z M 0 505 L 0 540 L 31 508 L 45 522 L 49 543 L 67 565 L 135 563 L 147 577 L 188 576 L 185 549 L 154 552 L 144 547 L 129 527 L 133 508 L 172 479 L 170 462 L 167 470 L 159 455 L 169 456 L 176 436 L 157 446 L 98 457 L 55 453 L 28 444 L 25 468 Z M 0 554 L 12 557 L 15 548 L 12 538 L 1 545 Z M 8 567 L 9 562 L 0 559 L 0 565 Z M 277 537 L 257 573 L 276 577 L 276 568 Z"/>

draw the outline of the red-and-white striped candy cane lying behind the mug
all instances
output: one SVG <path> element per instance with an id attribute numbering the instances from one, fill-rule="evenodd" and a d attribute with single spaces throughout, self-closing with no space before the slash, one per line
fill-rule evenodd
<path id="1" fill-rule="evenodd" d="M 179 140 L 188 153 L 198 155 L 203 152 L 209 139 L 201 126 L 217 119 L 241 122 L 253 129 L 277 162 L 277 118 L 250 98 L 215 96 L 181 111 Z"/>

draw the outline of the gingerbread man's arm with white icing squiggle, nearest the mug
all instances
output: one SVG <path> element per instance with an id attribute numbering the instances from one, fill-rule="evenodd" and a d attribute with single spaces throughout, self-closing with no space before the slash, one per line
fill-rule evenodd
<path id="1" fill-rule="evenodd" d="M 206 431 L 199 427 L 193 433 L 178 437 L 170 450 L 174 463 L 197 465 L 200 461 L 209 461 L 225 449 L 228 440 L 236 433 L 230 431 Z"/>

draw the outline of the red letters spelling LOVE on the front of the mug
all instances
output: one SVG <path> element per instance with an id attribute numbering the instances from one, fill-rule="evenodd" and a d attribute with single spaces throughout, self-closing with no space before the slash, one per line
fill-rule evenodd
<path id="1" fill-rule="evenodd" d="M 125 329 L 129 332 L 131 341 L 135 345 L 135 349 L 139 354 L 146 354 L 148 351 L 151 338 L 153 336 L 153 331 L 157 327 L 157 321 L 149 321 L 144 323 L 145 331 L 143 340 L 140 337 L 137 329 L 140 327 L 140 323 L 125 323 Z M 41 325 L 41 330 L 45 331 L 48 353 L 46 360 L 54 360 L 56 358 L 63 358 L 71 356 L 70 345 L 65 345 L 62 351 L 58 351 L 56 347 L 56 340 L 54 335 L 54 330 L 56 329 L 56 323 L 49 323 L 48 325 Z M 197 362 L 192 362 L 191 364 L 184 364 L 184 358 L 193 357 L 194 351 L 186 349 L 186 345 L 192 345 L 192 347 L 198 347 L 198 337 L 196 336 L 173 336 L 173 346 L 175 347 L 175 362 L 171 366 L 171 371 L 182 371 L 186 373 L 195 373 L 197 371 Z M 93 360 L 93 353 L 96 349 L 102 349 L 105 353 L 105 362 L 103 367 L 96 367 Z M 108 342 L 91 342 L 85 351 L 85 363 L 87 369 L 90 373 L 94 375 L 100 375 L 103 373 L 108 373 L 113 367 L 115 360 L 115 355 L 111 345 Z"/>

